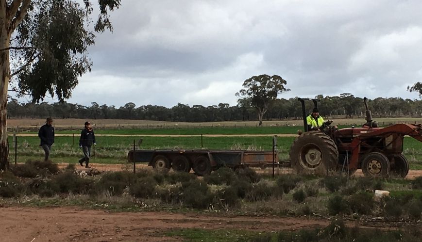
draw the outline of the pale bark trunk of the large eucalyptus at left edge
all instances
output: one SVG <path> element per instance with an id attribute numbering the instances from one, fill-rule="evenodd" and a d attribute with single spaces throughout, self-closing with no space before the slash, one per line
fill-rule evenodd
<path id="1" fill-rule="evenodd" d="M 0 1 L 0 49 L 9 48 L 10 33 L 7 30 L 5 2 Z M 4 5 L 3 5 L 4 4 Z M 9 167 L 9 147 L 7 143 L 7 88 L 9 86 L 9 50 L 0 50 L 0 169 Z"/>

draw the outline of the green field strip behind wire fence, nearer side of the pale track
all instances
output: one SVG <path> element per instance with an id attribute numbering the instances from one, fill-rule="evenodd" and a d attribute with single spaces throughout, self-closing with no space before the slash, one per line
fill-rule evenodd
<path id="1" fill-rule="evenodd" d="M 140 147 L 136 149 L 246 149 L 246 150 L 271 150 L 272 137 L 97 137 L 95 157 L 92 162 L 97 163 L 124 163 L 127 152 L 133 149 L 139 138 L 143 139 Z M 279 137 L 279 160 L 288 160 L 288 152 L 294 137 Z M 10 146 L 11 161 L 14 161 L 14 144 Z M 422 169 L 422 143 L 405 137 L 403 153 L 410 162 L 410 169 Z M 93 153 L 93 150 L 91 151 Z M 39 146 L 38 137 L 18 137 L 17 158 L 19 162 L 26 160 L 42 159 L 43 150 Z M 79 138 L 58 136 L 52 147 L 51 159 L 55 162 L 76 162 L 82 156 L 79 148 Z"/>

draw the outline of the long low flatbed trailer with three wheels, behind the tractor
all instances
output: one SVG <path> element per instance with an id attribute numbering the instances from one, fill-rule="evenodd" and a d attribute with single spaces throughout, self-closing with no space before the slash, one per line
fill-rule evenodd
<path id="1" fill-rule="evenodd" d="M 148 162 L 148 165 L 156 170 L 173 169 L 178 172 L 190 172 L 193 169 L 199 176 L 210 174 L 221 166 L 265 168 L 273 162 L 278 166 L 277 152 L 250 150 L 131 150 L 128 152 L 127 160 L 128 162 Z"/>

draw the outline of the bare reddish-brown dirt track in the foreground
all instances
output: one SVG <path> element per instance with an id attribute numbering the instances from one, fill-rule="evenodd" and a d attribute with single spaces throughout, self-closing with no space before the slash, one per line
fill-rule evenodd
<path id="1" fill-rule="evenodd" d="M 1 241 L 180 241 L 169 228 L 246 229 L 279 231 L 324 227 L 328 220 L 296 217 L 221 217 L 169 212 L 118 212 L 77 208 L 0 208 Z M 348 223 L 348 226 L 363 224 Z M 385 224 L 375 224 L 386 228 Z"/>

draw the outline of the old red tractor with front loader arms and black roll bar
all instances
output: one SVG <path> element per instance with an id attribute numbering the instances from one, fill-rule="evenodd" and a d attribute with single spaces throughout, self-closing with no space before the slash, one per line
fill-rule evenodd
<path id="1" fill-rule="evenodd" d="M 292 167 L 300 174 L 328 175 L 335 172 L 362 169 L 368 177 L 406 177 L 409 163 L 403 152 L 403 137 L 408 135 L 422 141 L 421 125 L 396 124 L 378 128 L 372 121 L 364 98 L 367 121 L 359 128 L 337 129 L 325 122 L 320 129 L 308 130 L 305 101 L 313 101 L 318 108 L 318 99 L 299 98 L 302 103 L 304 132 L 290 148 Z"/>

